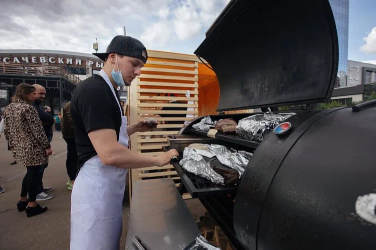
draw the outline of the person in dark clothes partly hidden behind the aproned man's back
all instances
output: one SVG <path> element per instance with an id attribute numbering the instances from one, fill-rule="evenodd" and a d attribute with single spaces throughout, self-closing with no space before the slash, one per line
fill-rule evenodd
<path id="1" fill-rule="evenodd" d="M 69 180 L 67 182 L 68 190 L 73 189 L 74 180 L 77 175 L 77 149 L 76 141 L 74 138 L 74 126 L 71 116 L 71 102 L 69 101 L 63 108 L 63 118 L 61 120 L 61 132 L 64 140 L 67 142 L 67 173 Z"/>

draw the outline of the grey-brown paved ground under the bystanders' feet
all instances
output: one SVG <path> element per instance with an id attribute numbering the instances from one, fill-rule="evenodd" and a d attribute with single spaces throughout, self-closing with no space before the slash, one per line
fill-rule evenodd
<path id="1" fill-rule="evenodd" d="M 0 184 L 6 189 L 5 193 L 0 194 L 0 249 L 69 249 L 71 191 L 66 185 L 66 143 L 61 139 L 60 132 L 54 133 L 51 145 L 56 154 L 50 156 L 43 182 L 45 186 L 55 188 L 50 192 L 54 198 L 40 202 L 48 206 L 47 212 L 27 218 L 25 212 L 18 212 L 16 207 L 26 167 L 9 164 L 13 161 L 12 153 L 7 149 L 4 136 L 0 139 Z M 198 200 L 188 200 L 186 203 L 194 216 L 205 213 Z M 124 198 L 123 204 L 120 249 L 125 247 L 129 197 Z"/>

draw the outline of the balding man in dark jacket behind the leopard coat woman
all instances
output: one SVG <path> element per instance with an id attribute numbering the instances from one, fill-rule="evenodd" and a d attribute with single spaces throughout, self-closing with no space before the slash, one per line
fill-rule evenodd
<path id="1" fill-rule="evenodd" d="M 48 141 L 51 142 L 51 140 L 52 140 L 52 126 L 55 123 L 54 117 L 50 113 L 46 112 L 41 106 L 42 102 L 45 100 L 45 97 L 46 97 L 46 89 L 42 85 L 39 85 L 39 84 L 33 84 L 33 86 L 35 86 L 36 92 L 37 92 L 33 106 L 37 108 L 39 118 L 42 121 L 42 125 L 43 125 L 45 132 L 46 132 Z M 48 163 L 45 164 L 45 165 L 42 165 L 41 170 L 39 172 L 40 180 L 39 180 L 39 185 L 38 185 L 38 190 L 37 190 L 37 193 L 38 193 L 37 201 L 47 200 L 47 199 L 53 198 L 53 196 L 47 194 L 47 192 L 54 190 L 54 188 L 53 187 L 44 187 L 43 181 L 42 181 L 43 173 L 44 173 L 44 170 L 47 166 L 48 166 Z"/>

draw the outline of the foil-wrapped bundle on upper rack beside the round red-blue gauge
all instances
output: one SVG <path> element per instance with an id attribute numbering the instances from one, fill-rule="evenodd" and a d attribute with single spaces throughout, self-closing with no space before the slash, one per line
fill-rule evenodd
<path id="1" fill-rule="evenodd" d="M 262 141 L 278 124 L 296 113 L 254 114 L 239 120 L 236 133 L 245 139 Z"/>

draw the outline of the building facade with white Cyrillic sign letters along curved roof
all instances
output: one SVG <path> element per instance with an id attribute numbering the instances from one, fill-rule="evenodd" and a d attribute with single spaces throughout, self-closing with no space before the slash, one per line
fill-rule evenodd
<path id="1" fill-rule="evenodd" d="M 46 88 L 43 105 L 57 113 L 71 99 L 81 80 L 100 70 L 103 61 L 92 54 L 45 50 L 0 49 L 0 115 L 20 83 Z"/>

